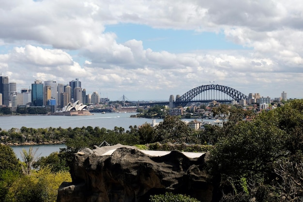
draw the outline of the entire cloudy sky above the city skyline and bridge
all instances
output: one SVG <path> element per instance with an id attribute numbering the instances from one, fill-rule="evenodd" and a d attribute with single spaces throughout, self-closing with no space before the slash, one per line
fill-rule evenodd
<path id="1" fill-rule="evenodd" d="M 211 82 L 303 97 L 302 0 L 0 0 L 0 72 L 118 100 Z"/>

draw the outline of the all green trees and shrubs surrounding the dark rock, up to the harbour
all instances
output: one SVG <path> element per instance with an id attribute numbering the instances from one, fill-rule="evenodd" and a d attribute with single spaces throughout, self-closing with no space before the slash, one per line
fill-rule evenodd
<path id="1" fill-rule="evenodd" d="M 223 127 L 205 125 L 201 131 L 189 129 L 175 116 L 165 116 L 155 128 L 143 124 L 127 130 L 91 126 L 0 129 L 1 141 L 6 144 L 60 141 L 67 146 L 60 153 L 33 161 L 32 152 L 23 152 L 27 158 L 21 163 L 11 148 L 0 145 L 0 201 L 53 201 L 57 192 L 46 186 L 52 183 L 50 179 L 58 178 L 52 189 L 57 191 L 61 182 L 69 181 L 67 171 L 74 153 L 104 140 L 109 144 L 140 144 L 140 148 L 153 150 L 211 151 L 208 171 L 214 185 L 213 202 L 303 200 L 303 100 L 258 114 L 221 105 L 213 108 L 212 114 L 229 119 Z M 193 145 L 184 147 L 184 142 Z M 29 172 L 22 173 L 22 165 Z M 30 170 L 32 167 L 36 170 Z M 185 196 L 168 194 L 151 200 L 168 199 L 184 201 Z"/>

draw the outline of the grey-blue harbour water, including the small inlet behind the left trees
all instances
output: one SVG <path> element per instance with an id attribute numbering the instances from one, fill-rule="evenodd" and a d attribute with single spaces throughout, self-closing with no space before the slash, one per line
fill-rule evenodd
<path id="1" fill-rule="evenodd" d="M 105 127 L 106 129 L 114 129 L 115 126 L 122 127 L 125 130 L 129 129 L 132 125 L 142 125 L 145 123 L 152 123 L 152 119 L 146 118 L 131 118 L 130 116 L 136 113 L 95 113 L 91 116 L 0 116 L 0 128 L 2 130 L 9 130 L 11 128 L 48 128 L 48 127 L 62 127 L 62 128 L 75 128 L 82 126 L 91 127 Z M 183 121 L 192 121 L 193 119 L 182 119 Z M 159 123 L 162 119 L 157 119 Z M 198 120 L 202 121 L 202 120 Z M 212 120 L 204 120 L 212 121 Z M 29 151 L 33 147 L 35 150 L 38 148 L 36 155 L 48 156 L 53 152 L 59 152 L 60 148 L 64 148 L 64 144 L 55 145 L 32 145 L 32 146 L 12 146 L 15 154 L 20 158 L 22 149 Z M 21 158 L 20 158 L 21 159 Z"/>

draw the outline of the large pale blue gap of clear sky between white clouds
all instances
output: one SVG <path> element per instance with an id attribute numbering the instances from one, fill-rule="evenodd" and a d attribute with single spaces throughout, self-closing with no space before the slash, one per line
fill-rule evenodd
<path id="1" fill-rule="evenodd" d="M 117 42 L 136 39 L 144 49 L 182 53 L 195 50 L 248 49 L 228 41 L 224 33 L 197 32 L 193 30 L 157 29 L 140 24 L 107 25 L 106 31 L 117 34 Z"/>

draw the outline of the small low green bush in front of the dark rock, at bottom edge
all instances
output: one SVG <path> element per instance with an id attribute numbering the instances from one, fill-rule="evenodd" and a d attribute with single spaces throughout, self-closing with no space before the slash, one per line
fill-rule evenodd
<path id="1" fill-rule="evenodd" d="M 197 199 L 182 194 L 165 193 L 151 196 L 150 202 L 199 202 Z"/>

